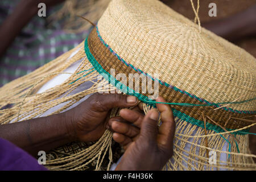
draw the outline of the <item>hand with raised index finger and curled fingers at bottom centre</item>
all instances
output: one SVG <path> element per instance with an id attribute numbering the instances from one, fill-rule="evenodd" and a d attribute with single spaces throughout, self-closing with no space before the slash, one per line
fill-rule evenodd
<path id="1" fill-rule="evenodd" d="M 162 97 L 157 102 L 166 102 Z M 175 122 L 170 106 L 156 104 L 162 125 L 158 128 L 159 113 L 156 109 L 142 113 L 122 109 L 120 115 L 133 123 L 111 121 L 113 139 L 125 149 L 116 170 L 160 170 L 173 154 Z M 141 128 L 141 130 L 139 130 Z"/>

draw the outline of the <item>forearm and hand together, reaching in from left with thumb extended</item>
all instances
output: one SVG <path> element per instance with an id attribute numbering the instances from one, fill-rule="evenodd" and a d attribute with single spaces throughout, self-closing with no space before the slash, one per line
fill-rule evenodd
<path id="1" fill-rule="evenodd" d="M 105 118 L 114 107 L 136 106 L 134 96 L 93 94 L 80 105 L 64 113 L 28 121 L 0 125 L 0 137 L 32 155 L 65 143 L 95 141 L 105 131 Z"/>

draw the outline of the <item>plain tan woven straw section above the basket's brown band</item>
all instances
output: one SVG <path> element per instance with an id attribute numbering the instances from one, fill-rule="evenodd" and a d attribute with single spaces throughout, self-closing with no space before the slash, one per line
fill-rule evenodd
<path id="1" fill-rule="evenodd" d="M 214 103 L 255 98 L 255 58 L 160 1 L 114 0 L 98 31 L 127 63 L 180 90 Z M 229 107 L 255 111 L 256 102 Z"/>

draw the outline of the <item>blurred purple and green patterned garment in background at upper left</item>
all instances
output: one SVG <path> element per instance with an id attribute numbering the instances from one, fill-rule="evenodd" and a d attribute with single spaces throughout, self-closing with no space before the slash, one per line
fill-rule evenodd
<path id="1" fill-rule="evenodd" d="M 18 2 L 0 1 L 0 23 L 12 13 Z M 47 15 L 59 7 L 61 5 L 47 9 Z M 47 18 L 35 16 L 0 58 L 0 86 L 34 71 L 77 46 L 89 32 L 71 34 L 62 30 L 61 22 L 55 22 L 51 28 L 46 24 Z"/>

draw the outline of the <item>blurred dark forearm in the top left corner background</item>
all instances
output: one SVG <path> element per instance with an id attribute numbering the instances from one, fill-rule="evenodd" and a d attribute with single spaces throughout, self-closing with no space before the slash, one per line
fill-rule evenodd
<path id="1" fill-rule="evenodd" d="M 30 6 L 29 1 L 18 3 L 13 13 L 0 26 L 0 57 L 35 14 L 36 9 Z"/>

